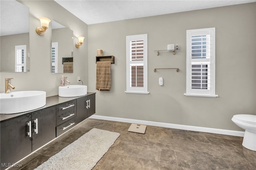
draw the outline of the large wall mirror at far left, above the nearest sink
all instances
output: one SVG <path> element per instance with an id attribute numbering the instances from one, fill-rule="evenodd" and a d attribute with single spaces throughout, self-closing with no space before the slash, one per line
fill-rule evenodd
<path id="1" fill-rule="evenodd" d="M 0 71 L 29 72 L 29 8 L 16 0 L 1 0 L 0 18 Z"/>

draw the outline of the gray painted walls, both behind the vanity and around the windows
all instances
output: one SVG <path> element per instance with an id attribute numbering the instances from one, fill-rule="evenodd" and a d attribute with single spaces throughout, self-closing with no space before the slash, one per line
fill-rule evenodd
<path id="1" fill-rule="evenodd" d="M 20 1 L 30 8 L 30 72 L 0 73 L 12 77 L 13 91 L 44 90 L 58 94 L 61 74 L 50 72 L 51 27 L 44 36 L 36 33 L 39 16 L 72 29 L 84 36 L 84 44 L 74 47 L 74 73 L 65 74 L 71 84 L 80 76 L 88 91 L 96 93 L 96 115 L 176 123 L 230 130 L 242 130 L 232 115 L 256 114 L 256 3 L 182 12 L 162 16 L 86 25 L 54 1 Z M 195 21 L 193 21 L 196 19 Z M 186 30 L 216 27 L 216 94 L 218 98 L 186 97 Z M 148 90 L 150 94 L 125 94 L 126 35 L 148 34 Z M 78 41 L 74 37 L 74 44 Z M 176 55 L 154 50 L 178 43 Z M 114 55 L 112 89 L 95 90 L 96 50 Z M 154 68 L 178 67 L 175 70 Z M 164 78 L 164 86 L 158 78 Z M 201 106 L 199 106 L 200 104 Z"/>

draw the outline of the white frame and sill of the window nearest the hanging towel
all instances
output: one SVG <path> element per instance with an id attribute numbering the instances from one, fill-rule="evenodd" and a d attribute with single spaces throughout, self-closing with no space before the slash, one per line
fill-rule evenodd
<path id="1" fill-rule="evenodd" d="M 143 87 L 130 87 L 130 41 L 144 41 Z M 141 61 L 140 61 L 141 62 Z M 126 36 L 126 91 L 130 94 L 149 94 L 148 92 L 148 34 Z"/>

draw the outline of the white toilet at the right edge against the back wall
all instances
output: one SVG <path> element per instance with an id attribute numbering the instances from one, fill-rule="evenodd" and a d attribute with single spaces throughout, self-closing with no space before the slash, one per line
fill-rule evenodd
<path id="1" fill-rule="evenodd" d="M 231 120 L 245 129 L 242 145 L 256 151 L 256 115 L 234 115 Z"/>

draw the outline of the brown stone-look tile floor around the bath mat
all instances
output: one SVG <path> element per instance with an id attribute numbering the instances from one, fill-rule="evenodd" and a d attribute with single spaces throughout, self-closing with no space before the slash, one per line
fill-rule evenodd
<path id="1" fill-rule="evenodd" d="M 138 134 L 128 132 L 130 123 L 89 118 L 19 162 L 22 170 L 36 168 L 94 127 L 120 137 L 93 170 L 256 169 L 256 152 L 242 147 L 242 137 L 154 126 Z"/>

